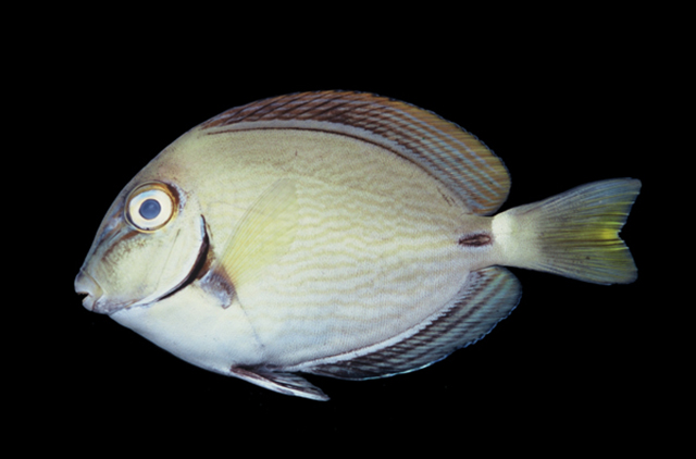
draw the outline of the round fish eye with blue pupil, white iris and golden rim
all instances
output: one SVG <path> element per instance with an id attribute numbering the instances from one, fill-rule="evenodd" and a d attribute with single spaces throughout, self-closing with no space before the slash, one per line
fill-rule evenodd
<path id="1" fill-rule="evenodd" d="M 146 184 L 130 193 L 126 218 L 136 230 L 151 232 L 164 226 L 176 212 L 176 198 L 162 184 Z"/>

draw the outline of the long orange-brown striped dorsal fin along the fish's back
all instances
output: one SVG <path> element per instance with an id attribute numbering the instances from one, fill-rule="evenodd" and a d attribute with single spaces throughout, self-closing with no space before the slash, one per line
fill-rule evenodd
<path id="1" fill-rule="evenodd" d="M 502 161 L 475 136 L 435 113 L 366 92 L 278 96 L 227 110 L 199 128 L 208 134 L 315 129 L 357 137 L 417 163 L 480 215 L 498 210 L 510 189 Z"/>

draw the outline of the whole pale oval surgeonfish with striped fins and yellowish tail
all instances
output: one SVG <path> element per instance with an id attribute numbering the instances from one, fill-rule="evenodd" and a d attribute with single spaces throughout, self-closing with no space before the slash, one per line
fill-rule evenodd
<path id="1" fill-rule="evenodd" d="M 154 157 L 108 210 L 75 290 L 194 365 L 327 400 L 306 375 L 393 376 L 482 339 L 520 301 L 509 266 L 637 278 L 619 233 L 639 179 L 498 212 L 510 184 L 474 135 L 407 102 L 272 97 Z"/>

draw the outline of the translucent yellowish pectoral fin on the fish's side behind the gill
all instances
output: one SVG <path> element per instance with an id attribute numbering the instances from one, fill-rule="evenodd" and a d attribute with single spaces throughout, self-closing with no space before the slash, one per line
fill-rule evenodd
<path id="1" fill-rule="evenodd" d="M 249 207 L 225 244 L 211 272 L 231 294 L 262 275 L 287 253 L 295 240 L 299 208 L 295 181 L 283 178 Z"/>

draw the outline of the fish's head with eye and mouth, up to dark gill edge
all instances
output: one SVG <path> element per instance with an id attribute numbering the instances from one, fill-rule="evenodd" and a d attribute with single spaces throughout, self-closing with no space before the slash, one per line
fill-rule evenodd
<path id="1" fill-rule="evenodd" d="M 75 290 L 99 313 L 151 305 L 195 278 L 207 250 L 195 197 L 174 183 L 136 176 L 107 212 Z"/>

